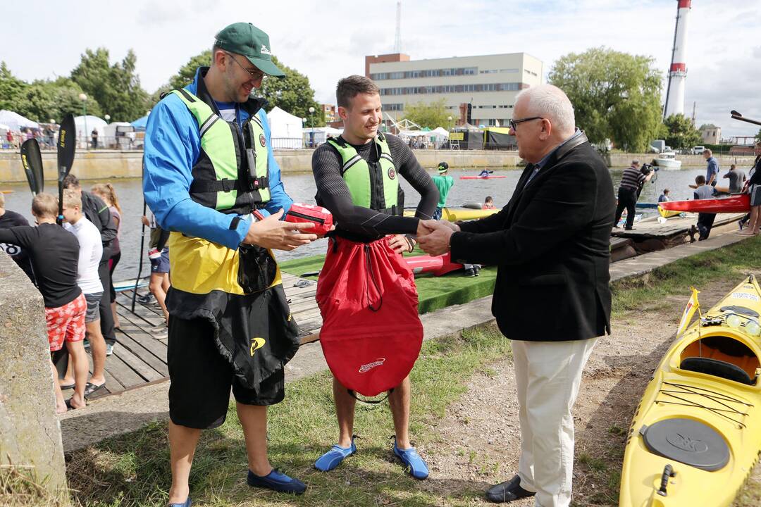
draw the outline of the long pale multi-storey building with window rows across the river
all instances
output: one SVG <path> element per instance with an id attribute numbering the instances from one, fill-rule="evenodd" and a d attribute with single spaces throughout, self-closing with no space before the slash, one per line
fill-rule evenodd
<path id="1" fill-rule="evenodd" d="M 404 118 L 407 105 L 443 99 L 453 124 L 464 120 L 505 127 L 515 96 L 541 84 L 544 68 L 540 59 L 523 52 L 426 60 L 398 54 L 365 57 L 365 71 L 380 88 L 384 111 L 395 121 Z"/>

